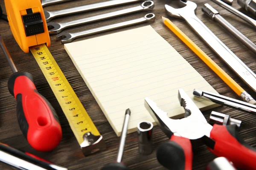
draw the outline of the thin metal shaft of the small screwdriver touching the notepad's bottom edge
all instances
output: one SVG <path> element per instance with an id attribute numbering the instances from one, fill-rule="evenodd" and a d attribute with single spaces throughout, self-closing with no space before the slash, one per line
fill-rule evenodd
<path id="1" fill-rule="evenodd" d="M 117 157 L 116 157 L 116 161 L 119 163 L 122 162 L 122 156 L 123 156 L 123 153 L 125 150 L 126 135 L 127 135 L 128 123 L 129 123 L 130 116 L 131 116 L 131 111 L 130 111 L 130 109 L 127 109 L 125 111 L 125 120 L 124 120 L 124 124 L 122 127 L 122 133 L 121 133 L 121 138 L 120 138 L 119 147 L 118 147 L 118 151 L 117 151 Z"/>

